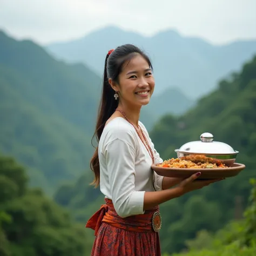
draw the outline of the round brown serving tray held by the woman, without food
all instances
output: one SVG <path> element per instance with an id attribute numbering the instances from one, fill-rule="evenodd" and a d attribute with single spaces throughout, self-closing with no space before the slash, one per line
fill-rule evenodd
<path id="1" fill-rule="evenodd" d="M 201 172 L 201 175 L 198 179 L 221 179 L 237 176 L 240 171 L 245 169 L 245 165 L 234 163 L 231 167 L 219 169 L 171 168 L 159 167 L 157 165 L 152 165 L 151 168 L 160 176 L 165 177 L 188 178 L 193 173 Z"/>

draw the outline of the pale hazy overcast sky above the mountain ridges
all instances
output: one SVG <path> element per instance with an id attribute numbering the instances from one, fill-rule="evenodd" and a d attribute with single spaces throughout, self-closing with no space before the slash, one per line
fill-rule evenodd
<path id="1" fill-rule="evenodd" d="M 0 0 L 0 29 L 45 44 L 106 25 L 145 36 L 174 29 L 214 44 L 256 39 L 256 0 Z"/>

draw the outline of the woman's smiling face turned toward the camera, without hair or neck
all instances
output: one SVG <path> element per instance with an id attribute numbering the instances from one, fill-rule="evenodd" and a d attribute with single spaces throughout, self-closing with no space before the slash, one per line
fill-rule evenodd
<path id="1" fill-rule="evenodd" d="M 134 56 L 124 63 L 116 86 L 121 104 L 143 106 L 149 103 L 154 91 L 154 77 L 149 63 L 141 56 Z"/>

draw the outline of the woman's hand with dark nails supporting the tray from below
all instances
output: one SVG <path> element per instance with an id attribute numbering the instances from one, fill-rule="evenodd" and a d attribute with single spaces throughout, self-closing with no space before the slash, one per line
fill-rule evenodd
<path id="1" fill-rule="evenodd" d="M 201 175 L 200 172 L 194 173 L 189 178 L 181 181 L 181 183 L 178 185 L 179 188 L 181 188 L 182 193 L 188 193 L 193 190 L 199 190 L 200 188 L 203 188 L 205 186 L 210 185 L 211 183 L 215 183 L 217 181 L 223 180 L 223 179 L 207 179 L 207 180 L 197 180 L 197 178 Z"/>

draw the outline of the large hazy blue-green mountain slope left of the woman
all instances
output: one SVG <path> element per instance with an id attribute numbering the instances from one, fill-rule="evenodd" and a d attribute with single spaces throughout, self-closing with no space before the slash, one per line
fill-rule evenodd
<path id="1" fill-rule="evenodd" d="M 86 66 L 0 33 L 0 151 L 28 167 L 32 185 L 53 191 L 89 167 L 99 88 Z"/>

